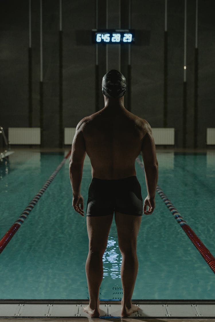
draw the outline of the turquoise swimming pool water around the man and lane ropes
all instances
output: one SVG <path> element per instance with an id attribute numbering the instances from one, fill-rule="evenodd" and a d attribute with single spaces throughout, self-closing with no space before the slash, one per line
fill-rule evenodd
<path id="1" fill-rule="evenodd" d="M 63 160 L 63 154 L 17 151 L 0 165 L 0 238 Z M 157 153 L 159 185 L 215 256 L 215 154 Z M 123 159 L 122 159 L 123 162 Z M 73 211 L 67 160 L 18 232 L 0 254 L 0 298 L 86 299 L 86 218 Z M 137 177 L 146 195 L 144 176 Z M 86 157 L 82 194 L 87 201 L 91 166 Z M 142 217 L 139 271 L 133 299 L 213 299 L 214 273 L 156 195 L 156 209 Z M 121 254 L 113 221 L 103 257 L 101 299 L 122 298 Z"/>

